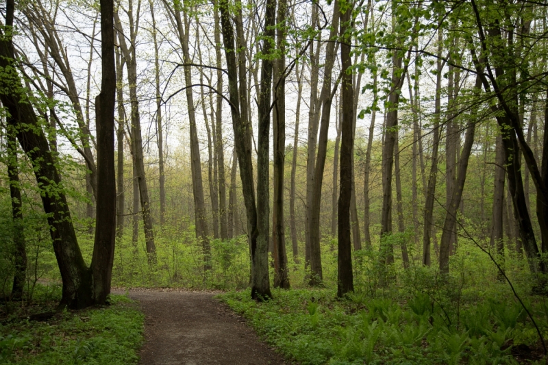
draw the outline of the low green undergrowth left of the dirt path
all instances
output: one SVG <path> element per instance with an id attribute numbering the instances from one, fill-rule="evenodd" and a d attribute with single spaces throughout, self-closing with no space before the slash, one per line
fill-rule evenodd
<path id="1" fill-rule="evenodd" d="M 60 299 L 60 290 L 53 289 L 52 294 L 51 288 L 38 289 L 34 304 L 12 302 L 0 307 L 0 364 L 138 362 L 144 316 L 134 301 L 112 295 L 105 307 L 37 318 L 54 311 Z"/>

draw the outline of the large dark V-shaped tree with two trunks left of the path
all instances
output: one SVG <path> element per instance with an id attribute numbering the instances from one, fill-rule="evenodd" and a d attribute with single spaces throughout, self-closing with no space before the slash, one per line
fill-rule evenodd
<path id="1" fill-rule="evenodd" d="M 116 75 L 114 68 L 114 30 L 112 12 L 114 4 L 109 0 L 101 1 L 101 36 L 103 43 L 103 81 L 100 95 L 99 133 L 102 147 L 98 151 L 101 166 L 98 174 L 104 200 L 97 216 L 98 226 L 92 255 L 92 264 L 88 268 L 79 249 L 71 212 L 66 201 L 64 188 L 53 153 L 42 131 L 40 120 L 32 105 L 28 103 L 27 90 L 21 85 L 14 62 L 12 27 L 15 3 L 7 1 L 5 27 L 0 30 L 0 67 L 5 75 L 0 80 L 2 92 L 0 101 L 8 110 L 8 125 L 14 130 L 23 151 L 34 167 L 34 175 L 40 188 L 40 197 L 46 214 L 53 250 L 57 258 L 63 289 L 60 306 L 83 308 L 92 304 L 104 304 L 110 293 L 110 273 L 114 257 L 115 234 L 115 197 L 114 181 L 114 92 Z M 4 36 L 6 34 L 6 36 Z M 112 150 L 112 151 L 108 151 Z M 97 230 L 104 229 L 102 232 Z"/>

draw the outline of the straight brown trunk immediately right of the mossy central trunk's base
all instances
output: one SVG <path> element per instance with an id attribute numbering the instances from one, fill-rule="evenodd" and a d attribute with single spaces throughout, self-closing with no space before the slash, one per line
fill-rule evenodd
<path id="1" fill-rule="evenodd" d="M 277 50 L 280 53 L 274 67 L 273 149 L 274 149 L 274 197 L 273 197 L 273 253 L 274 287 L 289 288 L 287 275 L 286 233 L 284 221 L 284 167 L 286 153 L 286 16 L 287 1 L 279 0 L 277 9 Z"/>

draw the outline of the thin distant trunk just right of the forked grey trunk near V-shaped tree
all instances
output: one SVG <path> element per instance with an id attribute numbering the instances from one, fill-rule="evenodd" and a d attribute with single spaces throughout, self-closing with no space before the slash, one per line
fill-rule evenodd
<path id="1" fill-rule="evenodd" d="M 152 36 L 154 39 L 154 79 L 156 86 L 156 138 L 158 142 L 158 184 L 160 188 L 160 225 L 166 223 L 166 188 L 164 171 L 164 135 L 162 129 L 162 94 L 160 92 L 160 62 L 158 47 L 158 32 L 154 18 L 154 2 L 149 0 L 150 14 L 152 17 Z"/>

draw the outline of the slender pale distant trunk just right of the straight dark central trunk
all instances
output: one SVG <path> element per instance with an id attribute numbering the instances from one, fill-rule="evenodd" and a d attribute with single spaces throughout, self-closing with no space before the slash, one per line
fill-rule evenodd
<path id="1" fill-rule="evenodd" d="M 297 246 L 297 224 L 295 222 L 295 175 L 297 172 L 297 153 L 299 153 L 299 121 L 301 118 L 301 97 L 303 95 L 303 76 L 304 67 L 299 73 L 299 64 L 295 64 L 295 74 L 297 75 L 297 110 L 295 112 L 295 134 L 293 135 L 293 154 L 291 160 L 291 181 L 289 190 L 289 214 L 291 229 L 291 246 L 293 249 L 293 261 L 299 263 L 299 247 Z"/>

